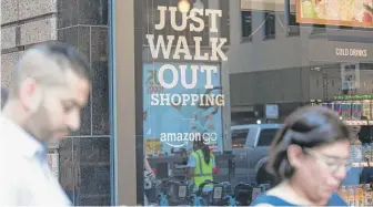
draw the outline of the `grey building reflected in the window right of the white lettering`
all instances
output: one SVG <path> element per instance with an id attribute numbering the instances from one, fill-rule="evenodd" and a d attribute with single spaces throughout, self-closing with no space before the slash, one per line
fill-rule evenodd
<path id="1" fill-rule="evenodd" d="M 311 100 L 372 93 L 372 29 L 300 24 L 294 0 L 230 1 L 230 8 L 234 124 L 265 118 L 270 103 L 279 104 L 282 120 Z"/>

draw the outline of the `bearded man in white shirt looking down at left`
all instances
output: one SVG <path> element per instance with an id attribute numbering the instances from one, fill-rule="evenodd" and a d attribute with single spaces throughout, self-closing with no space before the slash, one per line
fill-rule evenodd
<path id="1" fill-rule="evenodd" d="M 18 62 L 0 117 L 0 206 L 69 206 L 47 163 L 48 143 L 80 127 L 89 66 L 68 44 L 50 42 Z"/>

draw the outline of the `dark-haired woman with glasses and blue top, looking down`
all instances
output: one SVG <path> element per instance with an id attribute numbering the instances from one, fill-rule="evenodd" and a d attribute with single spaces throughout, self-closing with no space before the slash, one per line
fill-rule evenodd
<path id="1" fill-rule="evenodd" d="M 323 106 L 292 113 L 272 142 L 268 169 L 280 182 L 252 206 L 346 206 L 336 194 L 346 176 L 350 131 Z"/>

